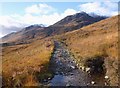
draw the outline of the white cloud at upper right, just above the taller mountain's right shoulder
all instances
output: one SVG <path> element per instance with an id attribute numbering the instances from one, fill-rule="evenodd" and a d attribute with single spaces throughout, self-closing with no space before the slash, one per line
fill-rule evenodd
<path id="1" fill-rule="evenodd" d="M 107 0 L 106 2 L 91 2 L 79 5 L 81 11 L 85 11 L 87 13 L 95 13 L 98 15 L 105 16 L 113 16 L 117 15 L 117 3 L 110 2 Z"/>

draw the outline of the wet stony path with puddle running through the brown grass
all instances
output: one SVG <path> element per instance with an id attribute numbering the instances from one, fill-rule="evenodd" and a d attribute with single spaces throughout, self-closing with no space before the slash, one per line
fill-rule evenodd
<path id="1" fill-rule="evenodd" d="M 55 42 L 55 50 L 50 63 L 51 70 L 55 74 L 50 80 L 50 86 L 90 85 L 88 74 L 77 68 L 74 58 L 59 42 Z"/>

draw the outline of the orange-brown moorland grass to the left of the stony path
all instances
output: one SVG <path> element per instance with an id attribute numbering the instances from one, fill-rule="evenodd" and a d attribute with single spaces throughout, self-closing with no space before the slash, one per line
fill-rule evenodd
<path id="1" fill-rule="evenodd" d="M 40 85 L 39 82 L 44 77 L 51 76 L 48 66 L 53 48 L 53 43 L 49 39 L 4 47 L 2 55 L 3 85 L 13 87 Z M 41 73 L 44 74 L 39 75 Z"/>

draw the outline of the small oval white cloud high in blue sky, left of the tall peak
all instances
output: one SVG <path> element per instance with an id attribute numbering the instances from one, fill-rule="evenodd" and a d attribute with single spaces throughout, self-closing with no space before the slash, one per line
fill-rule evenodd
<path id="1" fill-rule="evenodd" d="M 48 14 L 54 11 L 55 9 L 47 4 L 32 5 L 25 9 L 25 12 L 30 14 Z"/>

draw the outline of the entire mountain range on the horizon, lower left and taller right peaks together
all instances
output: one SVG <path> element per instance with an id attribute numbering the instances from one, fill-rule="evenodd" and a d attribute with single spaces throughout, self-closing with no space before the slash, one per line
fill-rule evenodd
<path id="1" fill-rule="evenodd" d="M 92 17 L 85 12 L 76 13 L 74 15 L 65 17 L 64 19 L 60 20 L 59 22 L 49 27 L 39 25 L 32 25 L 26 27 L 19 32 L 12 33 L 3 37 L 2 40 L 3 43 L 5 42 L 24 43 L 35 38 L 43 39 L 49 36 L 77 30 L 83 26 L 87 26 L 89 24 L 98 22 L 105 18 L 106 17 L 103 16 Z"/>

